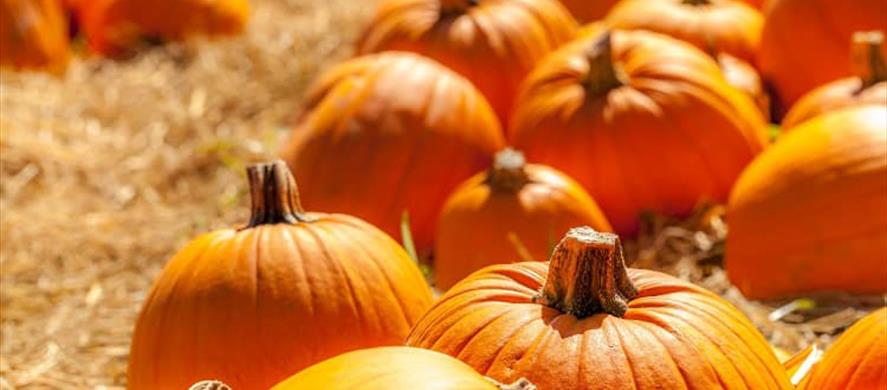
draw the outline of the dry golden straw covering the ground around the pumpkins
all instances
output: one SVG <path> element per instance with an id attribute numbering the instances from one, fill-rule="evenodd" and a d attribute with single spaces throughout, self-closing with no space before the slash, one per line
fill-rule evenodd
<path id="1" fill-rule="evenodd" d="M 306 84 L 350 55 L 375 1 L 253 3 L 238 38 L 79 57 L 62 79 L 0 75 L 0 389 L 125 386 L 151 280 L 196 233 L 245 221 L 244 164 L 273 155 Z M 859 315 L 769 321 L 771 306 L 726 283 L 725 230 L 703 219 L 653 221 L 636 264 L 718 291 L 788 350 Z"/>

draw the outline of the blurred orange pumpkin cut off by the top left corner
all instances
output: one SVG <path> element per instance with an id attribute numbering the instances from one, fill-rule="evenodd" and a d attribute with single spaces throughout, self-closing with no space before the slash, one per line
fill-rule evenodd
<path id="1" fill-rule="evenodd" d="M 69 58 L 58 0 L 0 0 L 0 66 L 61 73 Z"/>

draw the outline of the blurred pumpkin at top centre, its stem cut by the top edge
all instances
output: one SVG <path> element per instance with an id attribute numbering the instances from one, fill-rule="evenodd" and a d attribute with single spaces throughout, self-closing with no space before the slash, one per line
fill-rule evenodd
<path id="1" fill-rule="evenodd" d="M 576 26 L 556 0 L 386 0 L 357 47 L 440 61 L 471 80 L 505 121 L 521 80 Z"/>

